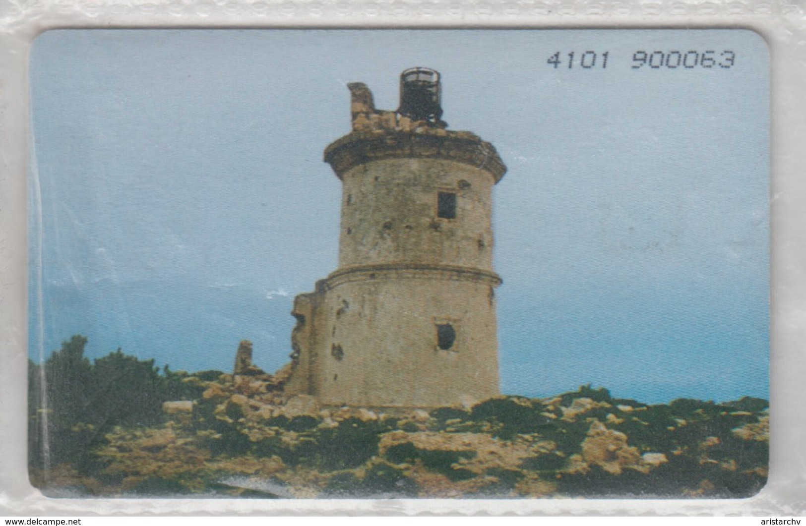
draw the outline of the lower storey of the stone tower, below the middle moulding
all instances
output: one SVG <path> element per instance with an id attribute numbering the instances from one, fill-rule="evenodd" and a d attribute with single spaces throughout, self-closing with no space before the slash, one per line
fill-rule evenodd
<path id="1" fill-rule="evenodd" d="M 453 267 L 335 272 L 297 296 L 287 391 L 326 406 L 469 406 L 499 394 L 492 273 Z"/>

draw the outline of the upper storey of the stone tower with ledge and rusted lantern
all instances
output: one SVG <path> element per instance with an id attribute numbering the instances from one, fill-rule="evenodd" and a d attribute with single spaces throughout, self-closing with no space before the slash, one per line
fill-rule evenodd
<path id="1" fill-rule="evenodd" d="M 401 106 L 351 91 L 352 131 L 325 160 L 343 181 L 339 268 L 492 271 L 492 187 L 506 168 L 492 144 L 442 122 L 439 74 L 401 75 Z"/>

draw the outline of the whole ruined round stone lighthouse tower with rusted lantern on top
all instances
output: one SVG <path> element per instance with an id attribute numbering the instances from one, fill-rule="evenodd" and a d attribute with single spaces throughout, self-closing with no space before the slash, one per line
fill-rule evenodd
<path id="1" fill-rule="evenodd" d="M 325 160 L 343 182 L 339 268 L 294 301 L 285 391 L 322 405 L 438 407 L 498 391 L 495 148 L 446 130 L 439 73 L 401 74 L 397 111 L 349 85 L 351 133 Z"/>

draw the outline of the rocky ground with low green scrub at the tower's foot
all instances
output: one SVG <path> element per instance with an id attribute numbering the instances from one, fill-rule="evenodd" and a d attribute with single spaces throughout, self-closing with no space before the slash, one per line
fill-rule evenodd
<path id="1" fill-rule="evenodd" d="M 318 408 L 277 375 L 184 375 L 164 423 L 115 428 L 48 495 L 743 498 L 767 479 L 766 400 L 646 405 L 580 387 L 472 408 Z M 281 373 L 282 371 L 280 371 Z"/>

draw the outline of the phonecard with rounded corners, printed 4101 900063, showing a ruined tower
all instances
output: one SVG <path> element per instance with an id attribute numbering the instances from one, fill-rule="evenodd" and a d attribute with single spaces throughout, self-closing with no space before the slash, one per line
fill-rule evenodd
<path id="1" fill-rule="evenodd" d="M 59 30 L 30 72 L 45 495 L 766 482 L 753 31 Z"/>

